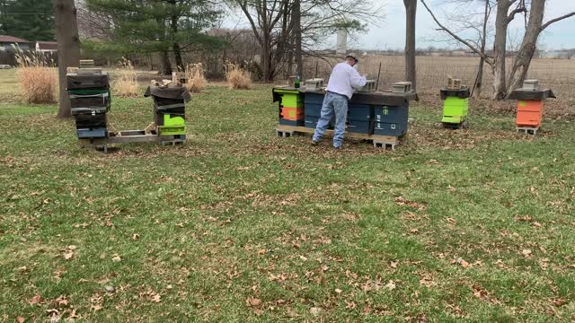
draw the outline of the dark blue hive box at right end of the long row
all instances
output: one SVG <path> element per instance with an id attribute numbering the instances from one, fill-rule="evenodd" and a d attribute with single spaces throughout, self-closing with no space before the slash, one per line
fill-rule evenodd
<path id="1" fill-rule="evenodd" d="M 408 116 L 409 106 L 374 107 L 374 135 L 405 135 Z"/>

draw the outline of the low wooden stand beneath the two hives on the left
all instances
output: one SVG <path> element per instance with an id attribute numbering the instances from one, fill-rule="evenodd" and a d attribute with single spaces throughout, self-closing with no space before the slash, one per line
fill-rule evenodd
<path id="1" fill-rule="evenodd" d="M 80 139 L 79 141 L 83 148 L 94 148 L 107 153 L 108 147 L 112 144 L 183 144 L 186 142 L 186 135 L 158 135 L 155 130 L 124 130 L 111 132 L 107 138 Z"/>

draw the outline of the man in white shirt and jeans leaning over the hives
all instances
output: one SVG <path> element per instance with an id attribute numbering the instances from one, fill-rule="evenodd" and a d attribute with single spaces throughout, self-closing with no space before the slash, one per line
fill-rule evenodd
<path id="1" fill-rule="evenodd" d="M 335 65 L 330 75 L 330 81 L 327 83 L 327 92 L 323 98 L 322 113 L 317 127 L 315 127 L 312 144 L 319 143 L 325 130 L 335 114 L 335 131 L 333 135 L 333 147 L 341 149 L 343 133 L 345 132 L 345 122 L 348 117 L 348 100 L 353 95 L 353 88 L 359 88 L 366 85 L 366 76 L 359 75 L 358 71 L 353 68 L 358 64 L 358 58 L 348 55 L 345 62 Z"/>

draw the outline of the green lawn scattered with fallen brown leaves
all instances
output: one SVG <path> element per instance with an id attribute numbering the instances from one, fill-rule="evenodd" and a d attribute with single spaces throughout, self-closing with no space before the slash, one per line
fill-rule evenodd
<path id="1" fill-rule="evenodd" d="M 531 137 L 472 106 L 452 131 L 416 105 L 394 152 L 336 152 L 277 138 L 270 94 L 209 87 L 187 144 L 108 154 L 55 106 L 0 105 L 0 321 L 575 319 L 572 120 Z"/>

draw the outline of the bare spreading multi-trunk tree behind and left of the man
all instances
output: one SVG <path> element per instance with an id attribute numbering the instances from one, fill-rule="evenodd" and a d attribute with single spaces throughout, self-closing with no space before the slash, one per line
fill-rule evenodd
<path id="1" fill-rule="evenodd" d="M 362 22 L 381 17 L 380 8 L 370 0 L 230 0 L 230 4 L 241 9 L 260 44 L 265 81 L 273 80 L 279 65 L 286 64 L 290 55 L 298 60 L 296 48 L 301 48 L 302 55 L 311 55 L 338 28 L 362 30 Z M 297 5 L 300 10 L 294 14 Z M 296 28 L 297 23 L 300 28 Z M 299 37 L 301 41 L 296 39 Z"/>

